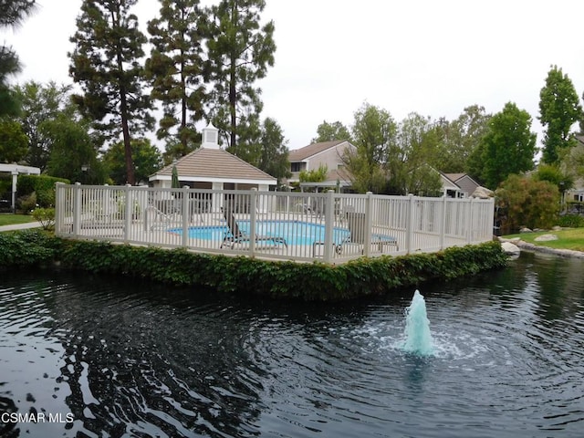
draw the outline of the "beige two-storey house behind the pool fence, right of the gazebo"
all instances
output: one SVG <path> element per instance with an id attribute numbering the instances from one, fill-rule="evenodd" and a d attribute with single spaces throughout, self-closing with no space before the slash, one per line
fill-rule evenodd
<path id="1" fill-rule="evenodd" d="M 339 190 L 348 188 L 351 185 L 349 172 L 345 169 L 342 160 L 347 150 L 354 151 L 356 148 L 349 141 L 323 141 L 312 143 L 304 148 L 290 151 L 288 160 L 290 162 L 290 172 L 292 176 L 288 183 L 298 183 L 300 172 L 316 171 L 320 166 L 327 166 L 328 174 L 325 181 L 320 183 L 301 183 L 302 188 L 313 187 L 319 189 Z"/>

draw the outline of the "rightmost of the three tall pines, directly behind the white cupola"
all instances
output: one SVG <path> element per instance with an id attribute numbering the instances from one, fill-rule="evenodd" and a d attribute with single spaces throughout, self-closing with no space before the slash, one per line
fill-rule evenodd
<path id="1" fill-rule="evenodd" d="M 227 150 L 243 159 L 259 136 L 263 104 L 255 81 L 274 65 L 274 22 L 261 25 L 265 6 L 265 0 L 221 0 L 210 15 L 212 121 L 227 138 Z"/>

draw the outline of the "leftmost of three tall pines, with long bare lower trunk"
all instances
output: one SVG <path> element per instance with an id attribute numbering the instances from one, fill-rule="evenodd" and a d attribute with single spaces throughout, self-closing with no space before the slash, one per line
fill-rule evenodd
<path id="1" fill-rule="evenodd" d="M 84 91 L 77 96 L 79 108 L 108 140 L 124 143 L 128 183 L 136 182 L 131 137 L 151 129 L 150 97 L 145 89 L 141 57 L 146 37 L 138 17 L 130 13 L 137 0 L 84 0 L 77 19 L 78 30 L 69 54 L 69 73 Z"/>

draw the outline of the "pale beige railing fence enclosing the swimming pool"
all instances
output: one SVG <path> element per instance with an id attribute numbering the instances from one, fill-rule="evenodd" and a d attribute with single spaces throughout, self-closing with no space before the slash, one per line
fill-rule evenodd
<path id="1" fill-rule="evenodd" d="M 493 237 L 494 201 L 57 183 L 56 233 L 137 245 L 344 263 Z"/>

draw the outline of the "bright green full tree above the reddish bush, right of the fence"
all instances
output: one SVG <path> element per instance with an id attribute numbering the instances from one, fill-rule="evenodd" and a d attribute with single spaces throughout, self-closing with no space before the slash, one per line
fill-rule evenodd
<path id="1" fill-rule="evenodd" d="M 530 131 L 531 116 L 508 102 L 489 121 L 483 137 L 483 180 L 495 189 L 512 173 L 527 172 L 534 167 L 536 134 Z"/>

